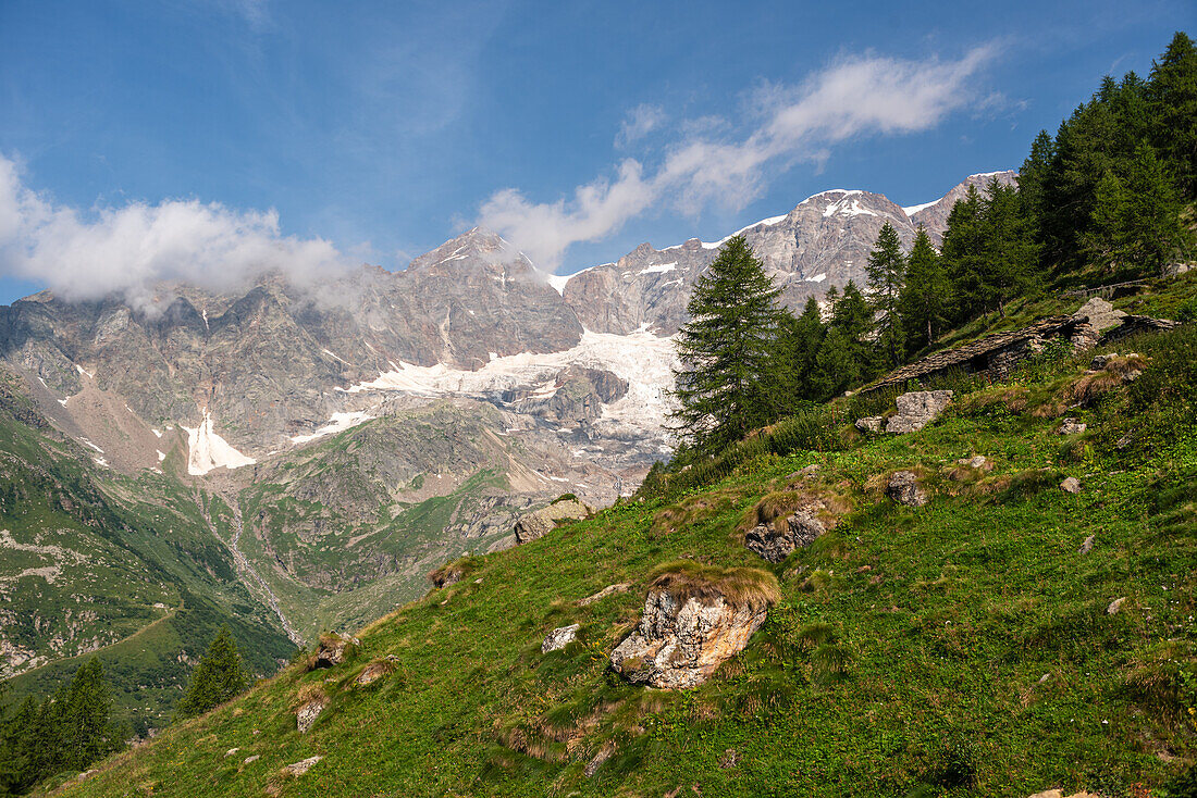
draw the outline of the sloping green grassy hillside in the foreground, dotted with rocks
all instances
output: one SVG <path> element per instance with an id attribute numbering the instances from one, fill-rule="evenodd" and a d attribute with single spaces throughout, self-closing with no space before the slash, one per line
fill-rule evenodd
<path id="1" fill-rule="evenodd" d="M 1146 796 L 1197 759 L 1197 333 L 1116 349 L 1146 372 L 1040 359 L 1007 384 L 960 380 L 909 435 L 851 426 L 887 397 L 782 422 L 643 501 L 467 560 L 346 663 L 292 665 L 67 794 Z M 1058 434 L 1064 415 L 1087 431 Z M 924 507 L 885 497 L 900 469 Z M 796 493 L 838 524 L 770 565 L 743 531 Z M 772 571 L 782 599 L 705 684 L 628 684 L 608 654 L 654 568 L 682 558 Z M 541 654 L 569 623 L 578 641 Z M 379 660 L 388 675 L 356 686 Z M 320 693 L 299 735 L 294 708 Z"/>

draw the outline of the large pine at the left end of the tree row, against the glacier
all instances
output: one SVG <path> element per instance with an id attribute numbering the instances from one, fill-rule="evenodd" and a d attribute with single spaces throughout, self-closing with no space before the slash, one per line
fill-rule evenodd
<path id="1" fill-rule="evenodd" d="M 672 418 L 695 450 L 718 451 L 771 420 L 780 293 L 743 236 L 730 238 L 694 285 Z"/>

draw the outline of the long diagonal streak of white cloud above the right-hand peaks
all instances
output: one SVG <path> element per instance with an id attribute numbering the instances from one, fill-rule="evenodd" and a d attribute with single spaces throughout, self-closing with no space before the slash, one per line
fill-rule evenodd
<path id="1" fill-rule="evenodd" d="M 954 61 L 843 57 L 800 86 L 753 92 L 751 124 L 739 138 L 713 138 L 719 126 L 706 120 L 668 146 L 655 171 L 626 159 L 614 179 L 595 179 L 548 203 L 503 189 L 482 203 L 479 224 L 553 269 L 571 244 L 598 240 L 658 203 L 687 214 L 711 203 L 739 209 L 760 194 L 767 175 L 798 162 L 819 165 L 833 146 L 858 136 L 930 129 L 976 103 L 970 80 L 994 56 L 986 45 Z"/>

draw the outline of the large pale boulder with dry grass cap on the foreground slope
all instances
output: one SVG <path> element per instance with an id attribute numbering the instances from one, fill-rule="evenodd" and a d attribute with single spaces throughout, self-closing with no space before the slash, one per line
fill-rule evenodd
<path id="1" fill-rule="evenodd" d="M 777 601 L 777 581 L 751 568 L 715 571 L 689 564 L 658 577 L 640 622 L 612 652 L 612 668 L 631 682 L 686 688 L 743 650 Z"/>

